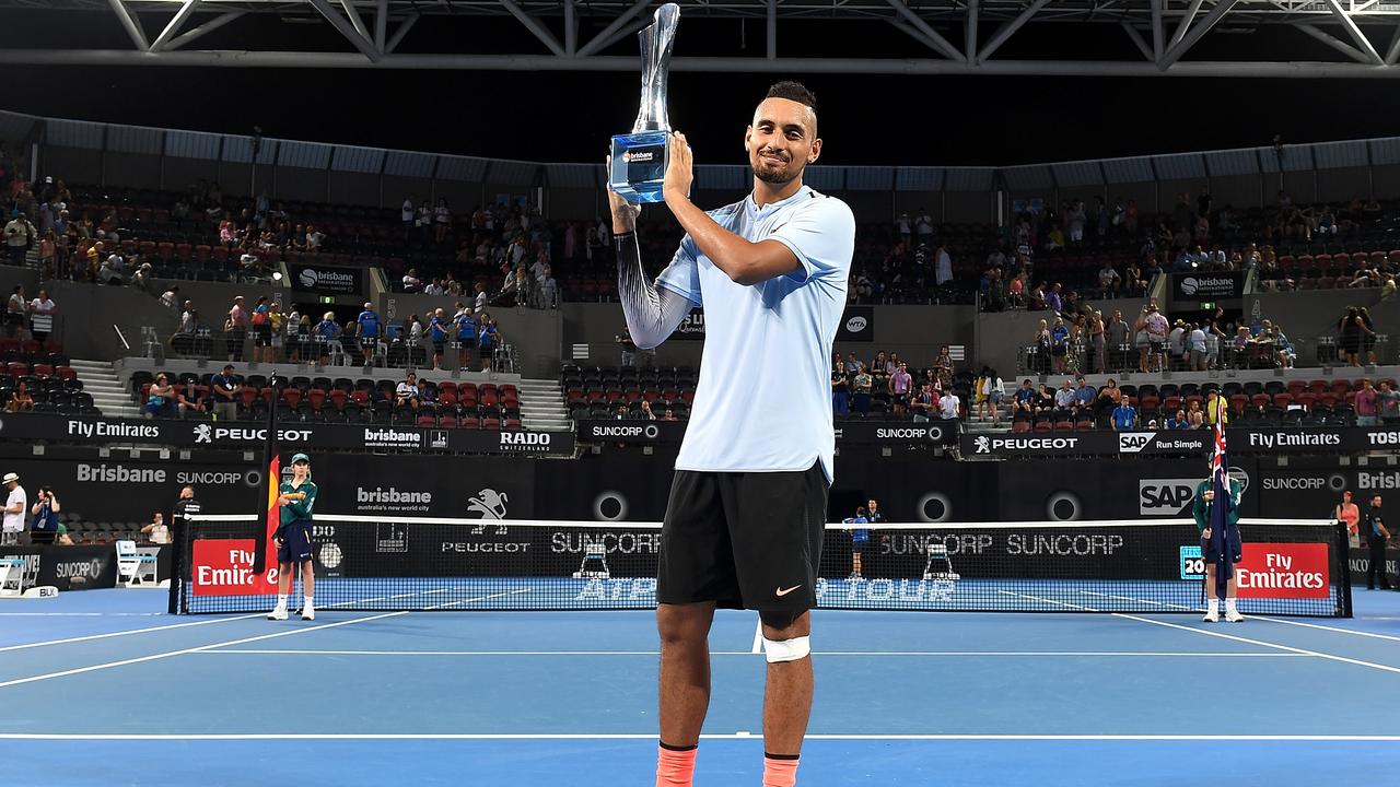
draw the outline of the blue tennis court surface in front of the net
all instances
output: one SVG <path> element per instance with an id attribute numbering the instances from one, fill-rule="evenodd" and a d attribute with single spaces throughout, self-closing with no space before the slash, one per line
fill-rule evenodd
<path id="1" fill-rule="evenodd" d="M 167 616 L 115 590 L 0 608 L 10 784 L 650 784 L 645 611 Z M 1357 618 L 819 611 L 799 783 L 1247 784 L 1400 767 L 1400 594 Z M 711 633 L 697 784 L 757 784 L 755 616 Z M 294 686 L 288 690 L 287 686 Z M 1382 742 L 1378 742 L 1382 741 Z"/>

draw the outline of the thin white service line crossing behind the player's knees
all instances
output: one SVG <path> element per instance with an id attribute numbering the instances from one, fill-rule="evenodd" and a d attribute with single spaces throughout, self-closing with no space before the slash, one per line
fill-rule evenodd
<path id="1" fill-rule="evenodd" d="M 273 650 L 273 648 L 223 648 L 199 651 L 204 655 L 661 655 L 654 650 Z M 710 655 L 756 655 L 742 650 L 713 651 Z M 972 650 L 864 650 L 864 651 L 813 651 L 813 657 L 934 657 L 934 658 L 1044 658 L 1044 657 L 1092 657 L 1092 658 L 1303 658 L 1301 653 L 1196 653 L 1196 651 L 972 651 Z"/>

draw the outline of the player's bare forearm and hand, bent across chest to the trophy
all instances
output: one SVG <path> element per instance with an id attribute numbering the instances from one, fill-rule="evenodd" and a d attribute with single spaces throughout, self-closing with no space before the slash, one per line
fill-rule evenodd
<path id="1" fill-rule="evenodd" d="M 773 239 L 756 244 L 746 241 L 696 207 L 690 202 L 690 182 L 693 179 L 690 146 L 686 144 L 685 134 L 679 132 L 671 134 L 668 144 L 671 160 L 666 164 L 666 178 L 662 186 L 666 207 L 671 209 L 696 246 L 714 262 L 715 267 L 725 272 L 729 280 L 736 284 L 746 286 L 801 269 L 797 253 L 785 244 Z"/>

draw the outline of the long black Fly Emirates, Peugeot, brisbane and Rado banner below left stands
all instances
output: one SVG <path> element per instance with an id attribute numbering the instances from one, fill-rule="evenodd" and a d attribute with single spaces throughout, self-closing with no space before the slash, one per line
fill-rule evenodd
<path id="1" fill-rule="evenodd" d="M 0 438 L 137 443 L 192 448 L 248 448 L 262 445 L 267 427 L 253 422 L 182 422 L 140 419 L 63 417 L 48 415 L 7 416 Z M 452 451 L 458 454 L 554 454 L 573 455 L 568 431 L 493 431 L 416 426 L 311 424 L 277 427 L 277 443 L 315 448 L 375 451 Z"/>

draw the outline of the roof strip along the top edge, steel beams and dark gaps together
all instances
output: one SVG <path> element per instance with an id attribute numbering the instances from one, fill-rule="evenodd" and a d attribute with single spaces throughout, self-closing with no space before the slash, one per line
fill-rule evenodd
<path id="1" fill-rule="evenodd" d="M 657 6 L 0 0 L 0 64 L 634 71 L 631 36 Z M 682 8 L 675 71 L 1400 74 L 1400 1 L 725 0 Z"/>

